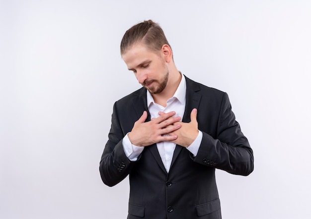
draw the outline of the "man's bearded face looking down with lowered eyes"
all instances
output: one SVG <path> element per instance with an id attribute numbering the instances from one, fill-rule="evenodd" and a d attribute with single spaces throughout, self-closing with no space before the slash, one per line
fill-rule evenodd
<path id="1" fill-rule="evenodd" d="M 122 58 L 138 82 L 151 94 L 159 94 L 164 90 L 169 72 L 160 51 L 156 53 L 140 43 L 128 49 Z"/>

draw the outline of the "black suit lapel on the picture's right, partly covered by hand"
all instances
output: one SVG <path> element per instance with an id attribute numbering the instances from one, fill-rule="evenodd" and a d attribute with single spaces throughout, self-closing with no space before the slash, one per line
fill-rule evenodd
<path id="1" fill-rule="evenodd" d="M 187 89 L 186 90 L 186 107 L 185 107 L 185 112 L 182 118 L 182 122 L 190 122 L 190 113 L 194 108 L 198 110 L 202 95 L 197 93 L 197 91 L 200 90 L 200 87 L 198 86 L 198 84 L 190 80 L 186 76 L 185 78 L 186 78 L 186 89 Z M 176 145 L 176 148 L 173 154 L 172 163 L 170 166 L 174 164 L 174 162 L 176 161 L 182 149 L 183 149 L 182 146 Z"/>

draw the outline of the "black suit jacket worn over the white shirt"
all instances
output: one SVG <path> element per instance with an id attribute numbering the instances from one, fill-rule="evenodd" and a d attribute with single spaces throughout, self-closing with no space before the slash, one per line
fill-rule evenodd
<path id="1" fill-rule="evenodd" d="M 215 168 L 238 175 L 253 170 L 253 153 L 235 121 L 228 95 L 187 77 L 186 86 L 182 121 L 190 122 L 191 110 L 198 109 L 198 128 L 203 138 L 197 156 L 176 145 L 168 173 L 156 144 L 145 147 L 136 162 L 131 162 L 123 151 L 123 137 L 143 111 L 148 111 L 146 89 L 114 104 L 109 140 L 99 169 L 108 186 L 129 175 L 128 219 L 221 219 Z"/>

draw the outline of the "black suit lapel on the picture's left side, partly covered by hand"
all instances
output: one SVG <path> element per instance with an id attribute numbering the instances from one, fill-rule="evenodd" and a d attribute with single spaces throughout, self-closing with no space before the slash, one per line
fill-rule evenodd
<path id="1" fill-rule="evenodd" d="M 147 91 L 145 88 L 141 88 L 140 90 L 138 90 L 136 92 L 136 98 L 133 99 L 133 107 L 136 111 L 136 115 L 137 115 L 137 119 L 138 120 L 143 112 L 146 110 L 148 112 L 148 117 L 146 119 L 146 122 L 147 121 L 150 121 L 150 112 L 148 110 L 148 107 L 147 107 Z M 156 144 L 153 144 L 153 145 L 150 145 L 148 147 L 146 147 L 144 150 L 149 150 L 151 152 L 151 154 L 154 156 L 155 160 L 156 160 L 156 163 L 160 166 L 160 168 L 166 172 L 166 169 L 164 167 L 164 164 L 161 160 L 161 157 L 158 153 L 158 150 L 156 148 Z"/>

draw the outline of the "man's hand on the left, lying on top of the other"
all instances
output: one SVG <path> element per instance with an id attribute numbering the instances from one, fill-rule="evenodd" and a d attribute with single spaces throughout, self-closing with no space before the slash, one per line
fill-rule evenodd
<path id="1" fill-rule="evenodd" d="M 160 116 L 145 122 L 147 119 L 147 111 L 134 123 L 132 131 L 128 137 L 133 145 L 148 146 L 162 141 L 174 141 L 177 139 L 177 133 L 174 131 L 181 127 L 178 122 L 181 117 L 175 116 L 174 111 L 161 112 Z"/>

